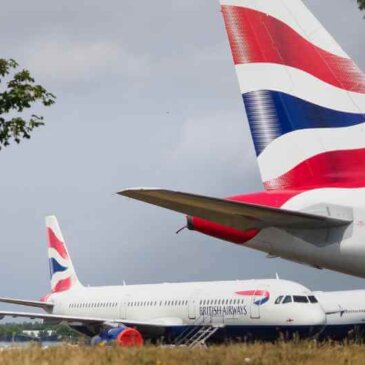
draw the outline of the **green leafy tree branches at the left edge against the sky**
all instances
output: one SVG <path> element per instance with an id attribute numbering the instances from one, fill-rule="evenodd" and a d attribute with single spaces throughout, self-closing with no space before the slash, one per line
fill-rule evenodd
<path id="1" fill-rule="evenodd" d="M 12 141 L 30 138 L 34 128 L 44 125 L 43 116 L 26 115 L 34 104 L 54 104 L 56 97 L 35 84 L 28 70 L 17 71 L 13 59 L 0 58 L 0 150 Z"/>

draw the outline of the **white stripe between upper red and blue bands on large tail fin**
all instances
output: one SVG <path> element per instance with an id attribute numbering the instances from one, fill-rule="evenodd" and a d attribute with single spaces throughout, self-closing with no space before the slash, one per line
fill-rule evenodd
<path id="1" fill-rule="evenodd" d="M 237 65 L 241 93 L 257 90 L 283 92 L 325 108 L 365 113 L 365 94 L 329 85 L 307 72 L 274 63 Z"/>

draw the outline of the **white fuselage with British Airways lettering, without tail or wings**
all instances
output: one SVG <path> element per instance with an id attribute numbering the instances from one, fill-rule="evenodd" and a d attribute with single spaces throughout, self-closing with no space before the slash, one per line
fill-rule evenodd
<path id="1" fill-rule="evenodd" d="M 279 296 L 295 296 L 303 302 L 275 304 Z M 53 294 L 52 314 L 155 322 L 152 337 L 176 336 L 189 326 L 221 327 L 224 337 L 266 336 L 281 332 L 315 333 L 325 324 L 321 306 L 305 287 L 282 280 L 165 283 L 115 287 L 75 287 Z M 164 332 L 161 332 L 164 327 Z M 272 331 L 270 331 L 272 330 Z M 221 331 L 221 332 L 222 332 Z M 145 335 L 145 334 L 144 334 Z"/>

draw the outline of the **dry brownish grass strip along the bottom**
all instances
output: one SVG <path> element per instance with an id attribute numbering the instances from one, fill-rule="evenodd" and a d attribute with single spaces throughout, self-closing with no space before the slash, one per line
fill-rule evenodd
<path id="1" fill-rule="evenodd" d="M 42 349 L 3 349 L 0 365 L 301 365 L 365 363 L 365 345 L 316 344 L 314 342 L 213 346 L 187 348 L 93 348 L 59 346 Z"/>

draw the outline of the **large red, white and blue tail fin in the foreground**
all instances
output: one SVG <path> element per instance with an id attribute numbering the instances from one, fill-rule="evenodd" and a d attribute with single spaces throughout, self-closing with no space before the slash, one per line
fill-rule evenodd
<path id="1" fill-rule="evenodd" d="M 365 186 L 365 76 L 301 0 L 221 0 L 267 190 Z"/>

